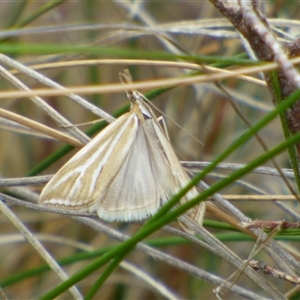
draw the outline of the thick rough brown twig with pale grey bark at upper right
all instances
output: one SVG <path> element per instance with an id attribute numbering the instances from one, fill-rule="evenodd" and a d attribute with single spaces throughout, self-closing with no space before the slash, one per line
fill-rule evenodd
<path id="1" fill-rule="evenodd" d="M 281 97 L 284 99 L 300 87 L 300 76 L 289 61 L 300 52 L 299 41 L 290 45 L 280 45 L 272 32 L 267 19 L 260 12 L 258 2 L 210 0 L 211 3 L 233 24 L 248 41 L 256 57 L 262 61 L 275 61 L 278 64 L 278 80 Z M 276 92 L 273 89 L 269 73 L 265 80 L 276 105 Z M 291 133 L 300 130 L 300 101 L 286 111 L 286 119 Z M 300 144 L 297 144 L 300 155 Z"/>

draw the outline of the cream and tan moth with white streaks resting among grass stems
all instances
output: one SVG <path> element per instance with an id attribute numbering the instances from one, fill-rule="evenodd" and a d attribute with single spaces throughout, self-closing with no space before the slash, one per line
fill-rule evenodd
<path id="1" fill-rule="evenodd" d="M 131 82 L 128 70 L 120 73 Z M 75 154 L 44 187 L 39 203 L 97 212 L 106 221 L 139 221 L 153 215 L 190 179 L 162 127 L 137 91 L 127 91 L 131 109 Z M 181 203 L 198 195 L 192 188 Z M 205 204 L 197 214 L 202 223 Z"/>

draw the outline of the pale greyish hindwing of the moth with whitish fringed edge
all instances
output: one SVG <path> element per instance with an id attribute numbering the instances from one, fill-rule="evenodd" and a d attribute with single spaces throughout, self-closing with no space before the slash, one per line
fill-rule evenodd
<path id="1" fill-rule="evenodd" d="M 135 141 L 115 176 L 109 175 L 111 183 L 98 200 L 97 213 L 107 221 L 145 219 L 174 192 L 175 182 L 168 161 L 144 127 L 144 120 L 136 118 L 139 124 Z M 105 174 L 109 174 L 112 164 L 104 166 Z"/>

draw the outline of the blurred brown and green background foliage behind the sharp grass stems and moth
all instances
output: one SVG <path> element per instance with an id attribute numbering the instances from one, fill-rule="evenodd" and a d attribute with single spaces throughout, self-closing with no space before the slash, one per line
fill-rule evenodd
<path id="1" fill-rule="evenodd" d="M 299 9 L 300 4 L 295 1 L 265 1 L 262 3 L 262 10 L 267 18 L 298 20 Z M 225 37 L 225 33 L 234 33 L 228 24 L 220 25 L 206 32 L 203 30 L 204 23 L 194 24 L 192 22 L 207 20 L 214 24 L 215 18 L 224 20 L 223 16 L 209 2 L 203 1 L 48 1 L 48 3 L 7 1 L 1 3 L 0 50 L 16 61 L 33 68 L 39 64 L 105 58 L 180 60 L 202 62 L 229 69 L 253 64 L 250 59 L 248 60 L 237 35 Z M 172 29 L 177 28 L 177 25 L 180 25 L 181 21 L 190 21 L 190 33 L 188 30 L 171 32 Z M 151 29 L 159 25 L 161 25 L 160 28 L 164 28 L 163 24 L 167 29 L 163 33 L 134 28 L 134 26 L 140 26 Z M 287 31 L 293 35 L 299 29 L 299 24 L 297 26 L 291 28 L 287 26 Z M 207 29 L 207 27 L 205 28 Z M 199 30 L 199 34 L 197 30 Z M 213 32 L 219 32 L 219 38 L 214 36 Z M 143 64 L 128 66 L 114 62 L 107 65 L 50 67 L 41 69 L 39 72 L 63 86 L 70 87 L 118 83 L 118 72 L 127 67 L 130 68 L 134 81 L 188 76 L 194 72 L 166 66 Z M 30 88 L 44 88 L 26 75 L 17 74 L 16 76 Z M 264 86 L 238 78 L 223 80 L 222 84 L 226 87 L 241 114 L 251 125 L 256 124 L 273 109 L 270 96 Z M 0 89 L 7 91 L 14 88 L 7 81 L 1 79 Z M 233 109 L 226 95 L 213 82 L 183 85 L 161 92 L 152 90 L 152 92 L 158 94 L 155 94 L 155 97 L 153 94 L 152 102 L 166 116 L 170 140 L 180 160 L 212 161 L 248 130 L 247 125 Z M 119 112 L 120 109 L 124 112 L 128 105 L 125 93 L 103 93 L 84 97 L 110 114 Z M 92 113 L 63 96 L 47 96 L 43 99 L 74 124 L 97 119 Z M 1 100 L 0 106 L 55 127 L 55 124 L 28 99 Z M 265 126 L 259 134 L 269 149 L 284 141 L 279 118 Z M 2 129 L 2 127 L 0 128 L 0 140 L 1 175 L 4 178 L 22 177 L 28 174 L 30 170 L 63 146 L 61 142 L 18 134 L 11 130 L 7 131 L 5 128 Z M 257 140 L 251 138 L 223 162 L 248 164 L 264 152 Z M 73 151 L 57 160 L 44 170 L 43 174 L 56 172 L 74 153 Z M 287 152 L 278 155 L 276 161 L 280 167 L 290 168 Z M 270 162 L 264 166 L 273 167 Z M 206 176 L 205 182 L 212 185 L 220 180 L 220 176 L 228 174 L 230 171 L 220 171 L 218 174 L 210 173 Z M 232 183 L 223 189 L 222 193 L 234 195 L 253 193 L 253 190 L 244 184 L 246 182 L 265 194 L 290 194 L 281 178 L 249 173 L 243 177 L 243 180 L 244 182 Z M 292 185 L 294 185 L 293 182 Z M 32 189 L 36 192 L 40 191 L 39 186 Z M 256 204 L 251 201 L 236 201 L 234 205 L 253 219 L 287 220 L 290 218 L 271 202 Z M 289 203 L 288 205 L 296 209 L 297 204 Z M 76 256 L 82 254 L 77 247 L 64 245 L 61 241 L 55 243 L 50 238 L 47 240 L 47 237 L 57 236 L 78 241 L 88 245 L 95 253 L 99 251 L 97 255 L 105 253 L 116 243 L 110 237 L 104 234 L 100 235 L 90 227 L 75 222 L 69 217 L 29 211 L 22 207 L 14 207 L 13 211 L 33 233 L 44 234 L 44 236 L 41 235 L 41 238 L 47 241 L 43 242 L 45 247 L 58 261 L 69 260 L 64 267 L 68 274 L 75 273 L 85 266 L 86 261 L 89 262 L 93 259 L 95 257 L 93 252 L 82 260 L 77 260 Z M 207 214 L 205 217 L 214 220 L 212 215 Z M 11 276 L 24 275 L 22 279 L 17 279 L 13 284 L 5 283 L 3 285 L 7 297 L 9 299 L 36 298 L 58 285 L 57 276 L 52 272 L 46 272 L 46 267 L 42 267 L 44 262 L 29 244 L 22 239 L 11 239 L 18 236 L 15 227 L 3 215 L 0 221 L 2 228 L 0 282 L 10 280 Z M 243 259 L 249 256 L 254 245 L 251 238 L 243 234 L 235 235 L 236 232 L 231 227 L 220 229 L 216 223 L 209 223 L 209 221 L 205 225 L 216 236 L 219 234 L 218 238 L 224 240 L 224 243 L 237 255 Z M 132 224 L 112 224 L 111 226 L 128 235 L 132 235 L 139 228 L 138 225 Z M 182 240 L 170 237 L 167 233 L 158 231 L 151 236 L 151 239 L 165 241 L 163 245 L 153 242 L 153 247 L 159 247 L 164 252 L 207 272 L 218 274 L 223 278 L 228 278 L 234 272 L 234 269 L 229 267 L 226 262 L 207 250 L 191 243 L 183 243 Z M 295 247 L 298 243 L 299 241 L 294 241 L 289 245 Z M 85 251 L 83 253 L 86 254 Z M 259 253 L 258 258 L 267 261 L 269 259 L 263 252 Z M 212 284 L 167 264 L 162 264 L 142 252 L 133 251 L 126 257 L 126 260 L 163 282 L 182 298 L 211 299 L 215 297 Z M 37 271 L 35 272 L 35 270 Z M 100 269 L 98 273 L 102 270 Z M 30 274 L 31 271 L 34 272 L 34 276 Z M 83 295 L 89 291 L 98 276 L 99 274 L 92 274 L 80 282 L 79 287 Z M 289 283 L 278 279 L 269 280 L 274 281 L 281 291 L 291 289 Z M 247 278 L 241 277 L 238 283 L 259 295 L 260 290 L 256 290 L 257 286 L 249 282 Z M 68 299 L 68 297 L 69 294 L 65 294 L 62 299 Z M 154 297 L 162 298 L 154 289 L 138 280 L 134 275 L 118 268 L 109 277 L 95 299 L 153 299 Z M 233 297 L 236 295 L 228 293 L 225 298 L 232 299 Z"/>

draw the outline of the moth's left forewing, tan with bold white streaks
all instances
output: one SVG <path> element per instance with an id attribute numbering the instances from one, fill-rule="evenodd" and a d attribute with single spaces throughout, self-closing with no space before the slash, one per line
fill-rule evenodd
<path id="1" fill-rule="evenodd" d="M 133 125 L 130 116 L 127 113 L 118 118 L 77 152 L 44 187 L 39 203 L 87 211 L 100 197 L 97 187 L 101 185 L 105 189 L 109 184 L 109 179 L 102 182 L 101 179 L 105 179 L 103 167 L 115 145 L 127 143 L 127 147 L 124 147 L 119 156 L 126 156 L 124 151 L 130 149 L 134 140 L 134 132 L 128 130 Z M 126 132 L 131 135 L 124 135 Z"/>

